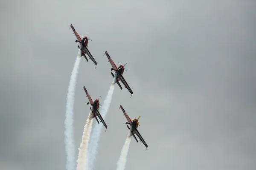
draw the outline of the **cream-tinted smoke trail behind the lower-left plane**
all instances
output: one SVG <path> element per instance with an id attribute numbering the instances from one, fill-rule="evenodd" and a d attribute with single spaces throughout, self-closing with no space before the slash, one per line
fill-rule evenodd
<path id="1" fill-rule="evenodd" d="M 76 170 L 84 170 L 84 166 L 88 162 L 87 151 L 88 151 L 88 144 L 90 140 L 90 133 L 92 131 L 92 124 L 93 124 L 93 113 L 90 111 L 86 124 L 84 125 L 84 132 L 83 132 L 82 141 L 79 147 L 78 159 L 76 161 L 77 162 Z"/>

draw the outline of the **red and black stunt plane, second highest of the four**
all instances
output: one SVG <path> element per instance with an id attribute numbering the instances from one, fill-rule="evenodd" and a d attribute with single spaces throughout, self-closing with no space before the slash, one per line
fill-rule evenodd
<path id="1" fill-rule="evenodd" d="M 128 83 L 125 81 L 125 78 L 122 76 L 122 74 L 124 73 L 124 71 L 127 71 L 124 66 L 127 65 L 127 63 L 125 65 L 122 65 L 120 62 L 119 62 L 119 67 L 117 68 L 116 67 L 116 64 L 113 62 L 113 60 L 110 58 L 108 52 L 106 51 L 105 52 L 106 56 L 108 57 L 108 62 L 110 62 L 112 68 L 111 68 L 111 71 L 114 70 L 116 72 L 116 74 L 114 75 L 112 72 L 111 72 L 111 75 L 113 76 L 113 78 L 115 78 L 115 81 L 114 83 L 117 83 L 117 85 L 119 86 L 119 88 L 121 88 L 122 90 L 122 86 L 120 85 L 119 81 L 121 81 L 124 85 L 125 85 L 125 88 L 127 88 L 127 90 L 131 93 L 131 96 L 133 94 L 133 91 L 131 90 L 131 88 L 129 87 Z M 104 54 L 104 55 L 105 55 Z M 103 56 L 104 56 L 103 55 Z"/>

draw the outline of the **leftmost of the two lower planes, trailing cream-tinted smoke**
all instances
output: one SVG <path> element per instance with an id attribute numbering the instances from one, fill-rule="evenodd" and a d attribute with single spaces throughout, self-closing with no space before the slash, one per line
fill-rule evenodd
<path id="1" fill-rule="evenodd" d="M 89 99 L 89 102 L 87 103 L 87 105 L 92 105 L 92 108 L 90 107 L 90 110 L 94 114 L 94 118 L 96 119 L 98 124 L 99 124 L 99 120 L 100 120 L 102 122 L 102 124 L 106 127 L 106 130 L 107 130 L 108 126 L 106 125 L 101 114 L 99 113 L 99 105 L 100 105 L 99 99 L 92 100 L 92 98 L 90 97 L 90 94 L 88 93 L 88 91 L 86 90 L 85 87 L 84 87 L 84 91 L 85 91 L 86 96 Z M 97 116 L 99 117 L 99 120 L 97 119 Z"/>

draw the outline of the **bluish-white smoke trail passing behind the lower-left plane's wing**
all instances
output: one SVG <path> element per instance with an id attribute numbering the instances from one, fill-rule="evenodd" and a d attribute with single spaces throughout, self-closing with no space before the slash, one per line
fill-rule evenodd
<path id="1" fill-rule="evenodd" d="M 114 82 L 114 79 L 113 79 L 113 82 Z M 103 119 L 105 119 L 105 117 L 108 113 L 108 108 L 109 108 L 109 105 L 111 103 L 112 95 L 113 95 L 113 92 L 114 92 L 114 89 L 115 89 L 115 85 L 114 85 L 113 82 L 112 82 L 112 84 L 111 84 L 111 86 L 108 90 L 108 94 L 106 96 L 106 99 L 104 100 L 103 105 L 99 110 Z M 90 160 L 88 161 L 88 166 L 87 166 L 86 169 L 93 170 L 93 165 L 94 165 L 94 161 L 95 161 L 95 158 L 96 158 L 96 155 L 97 155 L 98 142 L 99 142 L 99 139 L 100 139 L 100 134 L 101 134 L 102 127 L 103 127 L 102 125 L 95 124 L 95 127 L 93 129 L 93 132 L 92 132 L 92 135 L 91 135 L 91 138 L 90 138 L 89 152 L 88 152 L 90 154 Z"/>

